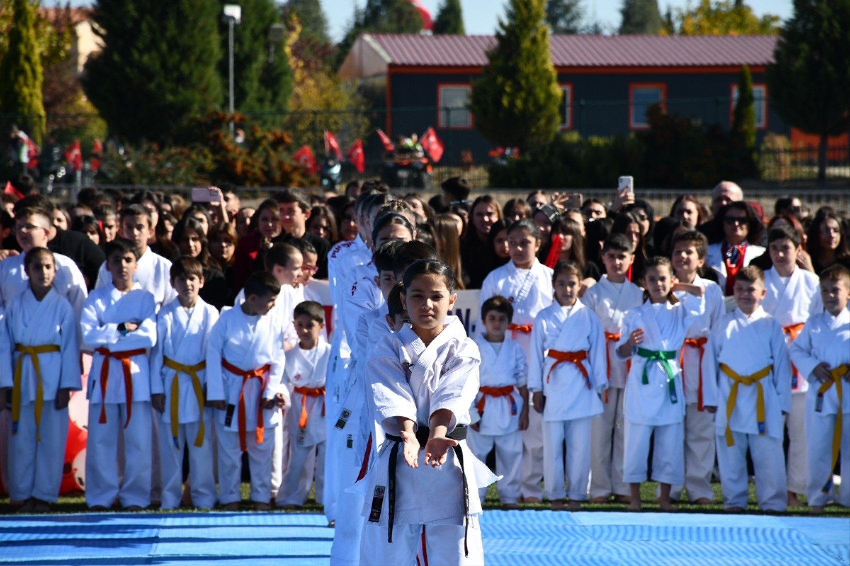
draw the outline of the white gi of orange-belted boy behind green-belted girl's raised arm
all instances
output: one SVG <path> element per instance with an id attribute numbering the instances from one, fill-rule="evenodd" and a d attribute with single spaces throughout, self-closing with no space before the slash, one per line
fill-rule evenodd
<path id="1" fill-rule="evenodd" d="M 700 342 L 707 341 L 711 328 L 726 312 L 723 289 L 714 281 L 702 279 L 699 275 L 696 276 L 694 285 L 705 290 L 706 312 L 691 325 L 688 338 Z M 685 291 L 675 293 L 679 300 L 686 294 Z M 717 382 L 706 382 L 702 373 L 701 360 L 705 357 L 705 348 L 705 342 L 700 347 L 699 343 L 689 344 L 686 340 L 680 357 L 688 405 L 685 410 L 685 483 L 672 486 L 671 495 L 675 500 L 682 499 L 683 488 L 688 490 L 690 501 L 701 497 L 714 499 L 714 489 L 711 487 L 711 473 L 714 472 L 714 460 L 717 455 L 714 415 L 702 407 L 717 405 Z"/>

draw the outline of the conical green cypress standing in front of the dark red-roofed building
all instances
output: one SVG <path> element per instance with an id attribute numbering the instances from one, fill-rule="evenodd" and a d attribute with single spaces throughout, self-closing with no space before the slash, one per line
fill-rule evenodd
<path id="1" fill-rule="evenodd" d="M 475 127 L 493 144 L 536 150 L 558 132 L 561 90 L 549 54 L 546 0 L 511 0 L 490 65 L 473 82 Z"/>

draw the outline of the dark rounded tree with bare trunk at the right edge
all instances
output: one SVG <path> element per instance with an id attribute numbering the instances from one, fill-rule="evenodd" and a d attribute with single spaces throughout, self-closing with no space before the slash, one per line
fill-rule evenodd
<path id="1" fill-rule="evenodd" d="M 768 65 L 774 110 L 792 127 L 820 136 L 818 181 L 826 182 L 830 135 L 850 130 L 850 2 L 794 0 Z"/>

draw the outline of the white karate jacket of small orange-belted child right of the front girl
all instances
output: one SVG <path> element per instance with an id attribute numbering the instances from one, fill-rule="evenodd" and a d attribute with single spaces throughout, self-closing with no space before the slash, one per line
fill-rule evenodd
<path id="1" fill-rule="evenodd" d="M 523 412 L 523 398 L 519 388 L 527 385 L 528 364 L 525 351 L 510 336 L 501 342 L 496 352 L 493 342 L 487 342 L 484 336 L 475 338 L 481 354 L 481 387 L 513 387 L 511 396 L 495 397 L 479 392 L 475 396 L 470 410 L 473 422 L 479 423 L 479 433 L 501 436 L 519 430 L 519 416 Z M 511 397 L 513 396 L 513 402 Z M 479 416 L 476 405 L 484 398 L 484 413 Z"/>

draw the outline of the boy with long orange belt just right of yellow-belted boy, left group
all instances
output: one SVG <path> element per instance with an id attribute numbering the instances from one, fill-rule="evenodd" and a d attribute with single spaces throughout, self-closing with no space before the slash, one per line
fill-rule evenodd
<path id="1" fill-rule="evenodd" d="M 272 311 L 280 283 L 266 271 L 245 283 L 245 302 L 224 312 L 207 344 L 207 400 L 218 409 L 218 501 L 236 511 L 241 501 L 242 453 L 251 465 L 251 500 L 269 509 L 274 429 L 279 405 L 290 405 L 280 387 L 286 353 L 282 323 Z"/>

